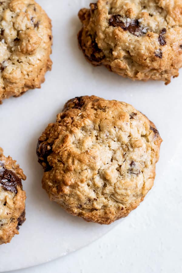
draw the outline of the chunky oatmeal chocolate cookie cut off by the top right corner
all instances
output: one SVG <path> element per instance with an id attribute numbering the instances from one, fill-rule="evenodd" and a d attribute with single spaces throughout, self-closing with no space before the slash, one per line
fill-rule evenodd
<path id="1" fill-rule="evenodd" d="M 93 65 L 170 83 L 182 66 L 181 0 L 99 0 L 82 8 L 79 47 Z"/>

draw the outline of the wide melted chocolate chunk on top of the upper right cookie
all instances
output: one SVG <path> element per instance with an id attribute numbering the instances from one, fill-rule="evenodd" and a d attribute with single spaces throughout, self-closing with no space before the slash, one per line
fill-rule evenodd
<path id="1" fill-rule="evenodd" d="M 147 30 L 143 32 L 144 29 L 140 27 L 138 20 L 130 20 L 130 22 L 123 23 L 121 18 L 121 15 L 112 15 L 109 19 L 109 25 L 113 27 L 120 27 L 124 31 L 129 31 L 135 36 L 146 34 Z"/>

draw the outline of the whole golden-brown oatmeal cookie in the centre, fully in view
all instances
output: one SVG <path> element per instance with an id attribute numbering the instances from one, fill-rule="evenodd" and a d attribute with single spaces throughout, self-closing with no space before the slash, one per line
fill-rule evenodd
<path id="1" fill-rule="evenodd" d="M 69 100 L 37 144 L 52 201 L 86 221 L 110 224 L 153 186 L 161 138 L 133 106 L 96 96 Z"/>

